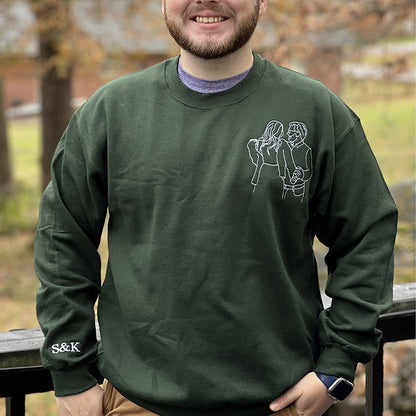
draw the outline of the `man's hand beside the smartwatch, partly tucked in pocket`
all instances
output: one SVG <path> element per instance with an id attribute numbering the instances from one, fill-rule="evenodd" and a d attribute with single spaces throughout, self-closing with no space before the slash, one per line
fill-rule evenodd
<path id="1" fill-rule="evenodd" d="M 270 404 L 273 412 L 295 404 L 299 416 L 322 416 L 335 400 L 328 395 L 328 390 L 315 373 L 308 373 Z"/>

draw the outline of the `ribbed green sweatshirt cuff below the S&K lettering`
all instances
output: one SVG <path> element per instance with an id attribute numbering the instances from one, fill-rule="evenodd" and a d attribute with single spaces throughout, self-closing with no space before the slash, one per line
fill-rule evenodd
<path id="1" fill-rule="evenodd" d="M 97 384 L 96 378 L 89 372 L 88 364 L 51 370 L 51 375 L 57 397 L 82 393 Z"/>

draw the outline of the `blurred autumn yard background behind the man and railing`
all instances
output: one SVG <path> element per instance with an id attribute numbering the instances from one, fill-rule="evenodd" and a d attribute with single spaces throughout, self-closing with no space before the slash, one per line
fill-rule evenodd
<path id="1" fill-rule="evenodd" d="M 255 50 L 322 81 L 360 116 L 399 207 L 395 283 L 414 282 L 414 0 L 269 0 Z M 1 0 L 0 332 L 38 327 L 38 204 L 73 111 L 105 82 L 177 53 L 160 0 Z M 323 284 L 324 251 L 317 244 Z M 105 232 L 100 252 L 105 266 Z M 415 414 L 414 357 L 414 341 L 386 346 L 386 416 Z M 351 401 L 362 401 L 363 376 Z M 26 409 L 56 414 L 51 393 L 28 396 Z"/>

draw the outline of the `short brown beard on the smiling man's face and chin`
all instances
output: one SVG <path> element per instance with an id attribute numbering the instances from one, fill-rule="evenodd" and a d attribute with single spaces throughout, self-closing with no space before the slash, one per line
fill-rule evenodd
<path id="1" fill-rule="evenodd" d="M 175 42 L 184 50 L 203 59 L 217 59 L 236 52 L 243 47 L 250 39 L 257 27 L 259 20 L 260 2 L 256 1 L 253 12 L 244 19 L 237 22 L 234 32 L 228 39 L 223 41 L 194 41 L 191 36 L 184 33 L 182 26 L 174 19 L 169 19 L 165 0 L 165 23 L 170 35 Z M 213 11 L 220 11 L 210 8 Z"/>

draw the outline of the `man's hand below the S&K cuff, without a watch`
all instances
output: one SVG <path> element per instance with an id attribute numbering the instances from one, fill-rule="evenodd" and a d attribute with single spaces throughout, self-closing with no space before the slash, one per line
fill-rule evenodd
<path id="1" fill-rule="evenodd" d="M 103 390 L 97 384 L 73 396 L 56 398 L 59 416 L 103 416 Z"/>

